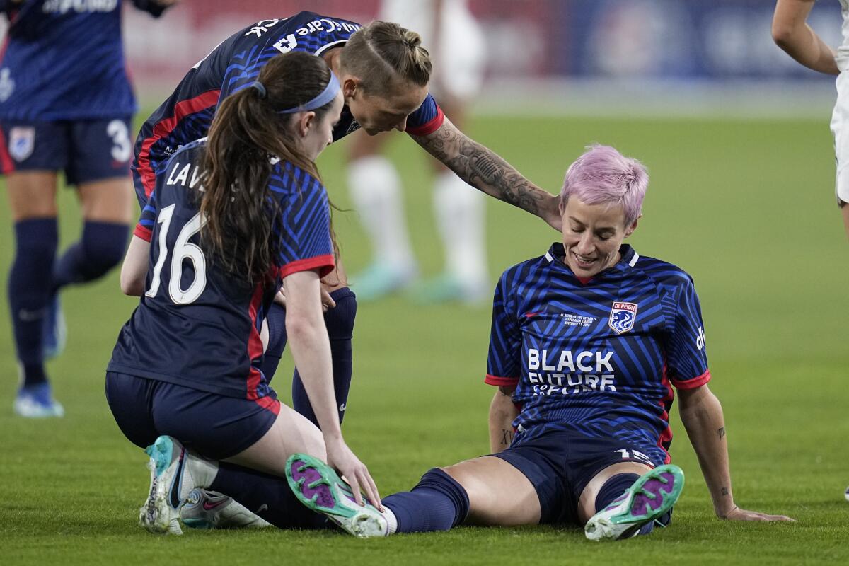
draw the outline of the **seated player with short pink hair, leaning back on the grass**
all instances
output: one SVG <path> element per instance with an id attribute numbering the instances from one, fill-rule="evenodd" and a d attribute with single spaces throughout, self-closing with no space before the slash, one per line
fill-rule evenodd
<path id="1" fill-rule="evenodd" d="M 648 182 L 637 160 L 591 147 L 566 172 L 562 243 L 500 278 L 486 370 L 498 387 L 491 455 L 431 469 L 386 497 L 385 513 L 332 497 L 345 486 L 335 472 L 295 455 L 299 499 L 361 536 L 461 523 L 582 524 L 593 541 L 648 534 L 669 523 L 683 488 L 667 452 L 674 386 L 717 516 L 790 520 L 734 504 L 692 278 L 622 244 Z M 316 496 L 318 478 L 329 487 Z"/>

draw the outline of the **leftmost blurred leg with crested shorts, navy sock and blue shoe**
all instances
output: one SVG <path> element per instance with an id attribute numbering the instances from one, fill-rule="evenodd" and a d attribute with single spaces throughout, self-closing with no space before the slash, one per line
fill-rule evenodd
<path id="1" fill-rule="evenodd" d="M 15 238 L 8 303 L 21 383 L 14 412 L 23 417 L 61 417 L 64 410 L 53 400 L 44 372 L 42 327 L 59 241 L 56 171 L 65 168 L 65 132 L 60 124 L 40 122 L 3 123 L 2 133 L 0 166 L 7 176 Z"/>

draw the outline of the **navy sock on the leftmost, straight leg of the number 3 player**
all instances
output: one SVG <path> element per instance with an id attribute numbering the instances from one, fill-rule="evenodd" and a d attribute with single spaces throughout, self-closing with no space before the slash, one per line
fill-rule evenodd
<path id="1" fill-rule="evenodd" d="M 50 300 L 58 241 L 55 218 L 14 224 L 15 255 L 8 274 L 8 305 L 25 386 L 47 380 L 42 364 L 42 325 Z"/>

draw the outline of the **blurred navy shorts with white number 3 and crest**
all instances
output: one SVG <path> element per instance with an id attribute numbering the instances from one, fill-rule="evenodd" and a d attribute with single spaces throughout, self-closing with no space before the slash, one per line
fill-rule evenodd
<path id="1" fill-rule="evenodd" d="M 65 171 L 69 185 L 127 177 L 130 117 L 0 122 L 0 171 Z"/>

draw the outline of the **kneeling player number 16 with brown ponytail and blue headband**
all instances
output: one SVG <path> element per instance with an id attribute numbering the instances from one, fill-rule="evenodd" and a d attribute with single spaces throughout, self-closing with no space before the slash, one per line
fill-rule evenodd
<path id="1" fill-rule="evenodd" d="M 139 516 L 148 530 L 182 532 L 178 510 L 194 488 L 250 505 L 251 490 L 274 482 L 283 502 L 263 517 L 320 524 L 286 513 L 286 499 L 299 506 L 285 480 L 269 475 L 284 475 L 285 458 L 301 449 L 379 501 L 342 438 L 320 298 L 335 253 L 314 161 L 332 141 L 342 100 L 323 59 L 279 55 L 222 102 L 208 138 L 183 146 L 156 177 L 121 269 L 122 289 L 141 303 L 106 374 L 116 423 L 151 457 Z M 292 355 L 321 431 L 280 404 L 260 369 L 263 318 L 281 284 Z"/>

